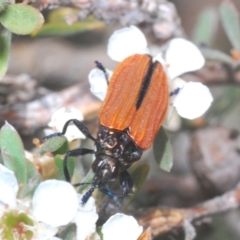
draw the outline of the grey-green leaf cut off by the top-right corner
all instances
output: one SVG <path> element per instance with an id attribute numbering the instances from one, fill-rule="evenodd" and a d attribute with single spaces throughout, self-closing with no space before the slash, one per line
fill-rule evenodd
<path id="1" fill-rule="evenodd" d="M 224 0 L 220 5 L 220 17 L 223 28 L 234 49 L 240 51 L 239 13 L 231 0 Z"/>

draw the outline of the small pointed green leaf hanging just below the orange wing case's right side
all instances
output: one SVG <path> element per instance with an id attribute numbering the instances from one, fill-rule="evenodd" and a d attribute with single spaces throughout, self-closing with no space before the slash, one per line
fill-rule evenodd
<path id="1" fill-rule="evenodd" d="M 171 143 L 163 127 L 160 128 L 153 143 L 153 153 L 160 168 L 169 172 L 173 165 Z"/>

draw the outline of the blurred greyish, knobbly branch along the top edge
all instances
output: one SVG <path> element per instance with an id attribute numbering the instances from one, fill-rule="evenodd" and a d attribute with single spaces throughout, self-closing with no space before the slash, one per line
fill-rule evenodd
<path id="1" fill-rule="evenodd" d="M 75 16 L 69 16 L 67 22 L 86 19 L 94 15 L 106 24 L 121 24 L 122 26 L 139 25 L 153 33 L 155 38 L 166 40 L 170 37 L 184 35 L 181 20 L 173 3 L 166 0 L 125 1 L 125 0 L 24 0 L 40 10 L 72 6 L 79 9 Z"/>

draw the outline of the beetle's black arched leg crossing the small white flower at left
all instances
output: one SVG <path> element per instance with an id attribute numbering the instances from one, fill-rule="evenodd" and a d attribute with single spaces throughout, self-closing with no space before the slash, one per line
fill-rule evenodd
<path id="1" fill-rule="evenodd" d="M 50 135 L 44 137 L 43 139 L 49 139 L 49 138 L 52 138 L 52 137 L 64 135 L 64 134 L 66 133 L 66 131 L 67 131 L 68 125 L 69 125 L 71 122 L 73 122 L 74 125 L 75 125 L 87 138 L 90 138 L 92 141 L 96 142 L 96 139 L 91 135 L 91 133 L 89 132 L 88 128 L 87 128 L 82 122 L 80 122 L 80 121 L 77 120 L 77 119 L 70 119 L 70 120 L 68 120 L 68 121 L 64 124 L 64 127 L 63 127 L 62 132 L 50 134 Z"/>

